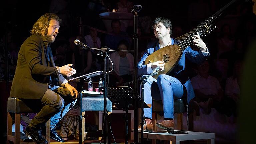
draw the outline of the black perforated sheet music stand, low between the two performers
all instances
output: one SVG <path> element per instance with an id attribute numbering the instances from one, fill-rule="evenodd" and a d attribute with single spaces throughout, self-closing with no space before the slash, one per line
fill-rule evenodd
<path id="1" fill-rule="evenodd" d="M 122 108 L 125 111 L 125 144 L 128 144 L 128 110 L 130 106 L 133 106 L 134 91 L 128 86 L 122 87 L 108 87 L 107 97 L 112 101 L 112 104 L 118 108 Z M 150 108 L 144 101 L 144 108 Z M 142 101 L 139 98 L 139 106 L 142 105 Z"/>

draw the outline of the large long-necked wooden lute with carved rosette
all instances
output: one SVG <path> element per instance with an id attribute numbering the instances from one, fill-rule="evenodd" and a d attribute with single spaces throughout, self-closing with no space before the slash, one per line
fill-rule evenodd
<path id="1" fill-rule="evenodd" d="M 204 22 L 202 22 L 200 25 L 198 25 L 196 28 L 194 28 L 192 31 L 184 34 L 183 36 L 179 37 L 178 41 L 176 41 L 173 45 L 169 45 L 166 47 L 163 47 L 152 54 L 150 54 L 146 60 L 145 64 L 153 63 L 156 61 L 164 61 L 164 70 L 159 71 L 157 75 L 153 76 L 155 79 L 160 74 L 168 74 L 172 69 L 177 65 L 178 61 L 180 60 L 182 56 L 182 52 L 193 43 L 192 37 L 195 37 L 195 35 L 198 35 L 200 37 L 206 36 L 208 33 L 210 33 L 215 26 L 213 26 L 216 19 L 223 13 L 223 11 L 233 4 L 237 0 L 232 0 L 229 2 L 226 6 L 221 8 L 219 11 L 217 11 L 215 14 L 210 16 L 208 19 L 206 19 Z"/>

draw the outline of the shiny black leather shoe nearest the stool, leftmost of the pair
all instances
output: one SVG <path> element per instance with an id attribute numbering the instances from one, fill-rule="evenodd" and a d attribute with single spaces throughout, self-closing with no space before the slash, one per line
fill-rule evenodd
<path id="1" fill-rule="evenodd" d="M 47 144 L 48 141 L 43 137 L 42 130 L 38 130 L 35 128 L 32 128 L 30 126 L 26 126 L 25 133 L 27 135 L 30 135 L 33 141 L 35 141 L 37 144 Z"/>

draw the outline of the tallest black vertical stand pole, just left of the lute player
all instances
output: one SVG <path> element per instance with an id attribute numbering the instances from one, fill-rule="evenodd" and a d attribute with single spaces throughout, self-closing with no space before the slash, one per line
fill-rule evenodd
<path id="1" fill-rule="evenodd" d="M 131 12 L 134 12 L 134 143 L 138 143 L 138 15 L 142 9 L 140 5 L 134 5 Z M 143 102 L 142 102 L 143 105 Z M 143 125 L 142 125 L 143 127 Z M 143 133 L 143 132 L 141 132 Z M 143 134 L 142 134 L 143 135 Z M 143 137 L 141 137 L 143 141 Z"/>

